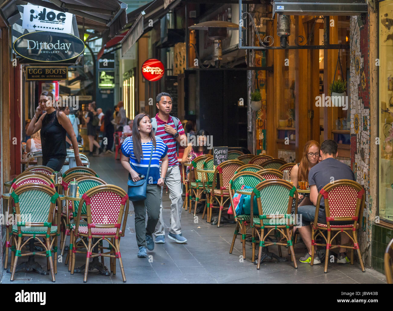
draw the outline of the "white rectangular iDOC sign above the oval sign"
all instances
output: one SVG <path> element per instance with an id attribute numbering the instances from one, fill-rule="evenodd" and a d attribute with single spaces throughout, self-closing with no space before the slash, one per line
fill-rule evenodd
<path id="1" fill-rule="evenodd" d="M 23 9 L 22 28 L 70 33 L 72 13 L 64 13 L 40 5 L 28 4 Z"/>

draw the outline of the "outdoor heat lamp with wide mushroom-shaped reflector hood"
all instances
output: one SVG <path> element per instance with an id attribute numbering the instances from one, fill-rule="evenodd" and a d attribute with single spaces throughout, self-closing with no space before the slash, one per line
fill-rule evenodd
<path id="1" fill-rule="evenodd" d="M 239 30 L 239 25 L 231 22 L 225 22 L 222 20 L 211 20 L 209 22 L 202 22 L 188 27 L 189 29 L 195 30 L 207 30 L 208 37 L 214 42 L 214 51 L 212 59 L 219 66 L 220 60 L 222 60 L 222 39 L 228 35 L 228 30 Z M 246 29 L 242 27 L 242 29 Z"/>

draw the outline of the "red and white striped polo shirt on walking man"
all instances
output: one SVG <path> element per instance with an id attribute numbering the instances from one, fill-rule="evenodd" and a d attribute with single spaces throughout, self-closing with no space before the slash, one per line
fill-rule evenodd
<path id="1" fill-rule="evenodd" d="M 173 123 L 173 119 L 171 116 L 169 116 L 168 122 L 162 121 L 158 117 L 158 113 L 157 113 L 156 120 L 157 120 L 156 137 L 160 137 L 165 143 L 165 145 L 168 146 L 168 152 L 167 152 L 168 160 L 169 160 L 168 166 L 178 165 L 177 154 L 176 154 L 176 138 L 174 138 L 172 134 L 165 132 L 164 129 L 165 124 L 168 124 L 176 130 L 176 127 L 174 126 Z M 177 132 L 179 133 L 179 135 L 185 135 L 182 123 L 180 121 L 178 122 L 179 122 L 179 126 L 177 128 Z"/>

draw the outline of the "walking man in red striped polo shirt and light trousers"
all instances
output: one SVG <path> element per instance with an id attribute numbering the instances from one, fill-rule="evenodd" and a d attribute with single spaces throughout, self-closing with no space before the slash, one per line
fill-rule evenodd
<path id="1" fill-rule="evenodd" d="M 152 126 L 156 131 L 155 135 L 160 137 L 168 147 L 167 155 L 169 164 L 168 171 L 165 176 L 165 184 L 169 189 L 169 198 L 171 199 L 171 220 L 168 238 L 174 240 L 176 243 L 186 243 L 187 239 L 182 235 L 182 228 L 180 226 L 183 199 L 176 143 L 182 146 L 187 146 L 187 137 L 185 136 L 182 123 L 180 123 L 179 119 L 169 115 L 172 111 L 171 95 L 168 93 L 158 94 L 156 98 L 156 106 L 158 108 L 158 113 L 156 114 L 156 117 L 152 119 Z M 157 124 L 157 126 L 154 124 Z M 162 219 L 162 191 L 163 187 L 161 187 L 160 217 L 158 218 L 156 231 L 154 232 L 154 235 L 156 236 L 156 240 L 154 241 L 155 243 L 165 243 L 165 229 Z"/>

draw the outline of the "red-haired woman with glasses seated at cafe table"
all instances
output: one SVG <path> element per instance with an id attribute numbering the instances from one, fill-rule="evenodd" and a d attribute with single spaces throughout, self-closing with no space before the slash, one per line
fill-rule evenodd
<path id="1" fill-rule="evenodd" d="M 309 181 L 310 169 L 319 162 L 320 148 L 318 141 L 314 140 L 307 141 L 304 145 L 301 160 L 297 165 L 294 165 L 291 171 L 291 181 L 296 188 L 298 188 L 299 181 Z M 303 198 L 304 200 L 302 200 Z M 309 195 L 299 194 L 299 200 L 302 200 L 301 205 L 312 205 Z"/>

